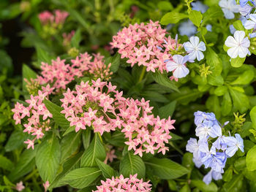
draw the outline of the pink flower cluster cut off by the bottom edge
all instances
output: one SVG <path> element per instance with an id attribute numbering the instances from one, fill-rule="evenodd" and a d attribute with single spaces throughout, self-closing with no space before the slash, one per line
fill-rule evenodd
<path id="1" fill-rule="evenodd" d="M 119 177 L 107 179 L 101 181 L 102 185 L 97 186 L 97 191 L 94 192 L 150 192 L 151 184 L 143 182 L 143 179 L 139 180 L 137 174 L 130 175 L 129 178 L 124 178 L 121 174 Z"/>

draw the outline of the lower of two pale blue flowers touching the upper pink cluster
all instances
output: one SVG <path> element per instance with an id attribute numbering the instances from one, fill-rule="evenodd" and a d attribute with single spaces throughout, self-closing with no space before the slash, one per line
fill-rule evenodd
<path id="1" fill-rule="evenodd" d="M 168 61 L 166 63 L 166 68 L 168 72 L 173 72 L 173 77 L 182 78 L 189 74 L 189 69 L 185 64 L 189 61 L 189 56 L 173 55 L 173 61 Z"/>

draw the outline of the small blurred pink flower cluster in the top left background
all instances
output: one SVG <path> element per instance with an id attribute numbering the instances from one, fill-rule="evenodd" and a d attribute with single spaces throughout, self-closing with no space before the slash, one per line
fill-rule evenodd
<path id="1" fill-rule="evenodd" d="M 61 11 L 59 9 L 56 9 L 54 11 L 55 15 L 53 15 L 51 12 L 49 11 L 44 11 L 39 13 L 38 17 L 40 22 L 42 23 L 42 25 L 48 25 L 48 24 L 56 24 L 56 25 L 60 25 L 60 24 L 64 24 L 67 16 L 69 15 L 68 12 L 65 11 Z"/>

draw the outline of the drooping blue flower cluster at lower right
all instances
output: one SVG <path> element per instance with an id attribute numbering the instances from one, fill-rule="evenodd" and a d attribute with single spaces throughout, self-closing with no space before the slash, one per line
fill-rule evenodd
<path id="1" fill-rule="evenodd" d="M 213 112 L 197 111 L 194 115 L 197 126 L 195 135 L 199 139 L 197 142 L 197 139 L 190 138 L 186 149 L 193 153 L 195 166 L 200 168 L 204 165 L 206 169 L 211 168 L 203 177 L 203 181 L 209 184 L 212 179 L 222 179 L 227 158 L 232 157 L 238 148 L 244 152 L 244 140 L 239 134 L 235 134 L 235 137 L 222 135 L 222 126 Z"/>

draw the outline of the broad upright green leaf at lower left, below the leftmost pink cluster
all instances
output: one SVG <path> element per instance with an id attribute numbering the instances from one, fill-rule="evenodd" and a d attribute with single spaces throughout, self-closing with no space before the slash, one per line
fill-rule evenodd
<path id="1" fill-rule="evenodd" d="M 41 142 L 37 149 L 36 165 L 42 180 L 50 183 L 56 176 L 61 157 L 59 140 L 53 136 Z"/>

